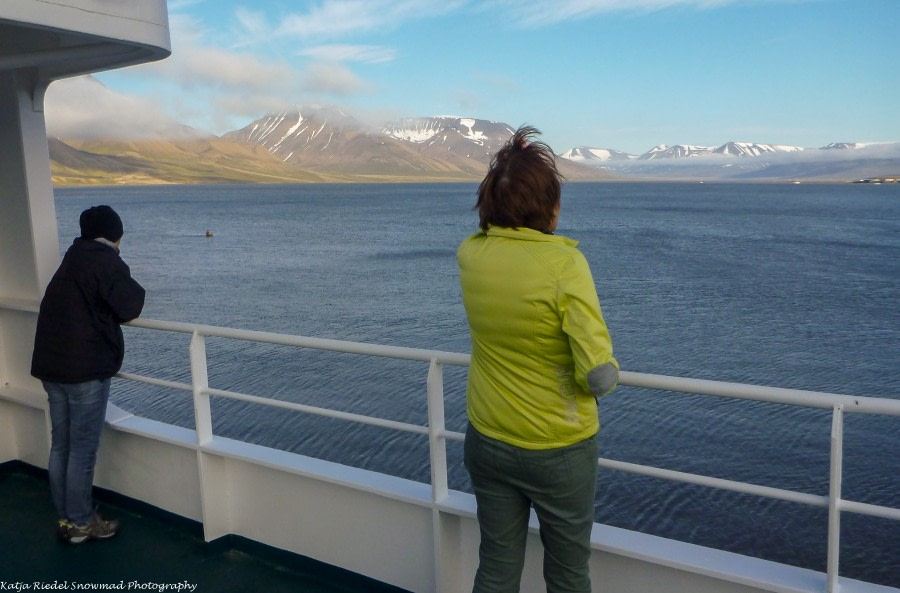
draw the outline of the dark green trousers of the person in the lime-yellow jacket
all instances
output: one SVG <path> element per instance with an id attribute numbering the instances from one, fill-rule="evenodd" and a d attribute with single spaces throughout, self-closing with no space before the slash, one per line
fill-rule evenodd
<path id="1" fill-rule="evenodd" d="M 517 593 L 534 506 L 544 544 L 547 593 L 590 593 L 597 440 L 559 449 L 522 449 L 466 431 L 465 464 L 481 529 L 473 593 Z"/>

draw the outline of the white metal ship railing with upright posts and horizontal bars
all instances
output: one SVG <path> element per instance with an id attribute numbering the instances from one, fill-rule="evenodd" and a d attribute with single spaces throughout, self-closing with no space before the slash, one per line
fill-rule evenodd
<path id="1" fill-rule="evenodd" d="M 187 323 L 154 321 L 138 319 L 128 325 L 138 328 L 160 330 L 168 332 L 180 332 L 191 334 L 189 348 L 192 382 L 190 385 L 135 375 L 120 373 L 122 379 L 139 381 L 152 385 L 190 391 L 193 393 L 196 433 L 198 444 L 209 443 L 213 438 L 212 415 L 210 412 L 210 396 L 225 397 L 240 401 L 252 402 L 267 406 L 274 406 L 339 418 L 362 424 L 380 426 L 403 432 L 427 435 L 431 459 L 431 490 L 432 502 L 438 505 L 444 501 L 449 493 L 447 479 L 447 454 L 446 441 L 462 441 L 465 435 L 459 432 L 448 431 L 444 424 L 444 381 L 443 365 L 467 367 L 470 357 L 467 354 L 455 352 L 440 352 L 436 350 L 424 350 L 415 348 L 402 348 L 396 346 L 383 346 L 359 342 L 346 342 L 322 338 L 293 336 L 286 334 L 238 330 L 208 325 L 196 325 Z M 406 360 L 418 360 L 428 363 L 428 376 L 426 395 L 428 398 L 428 426 L 396 422 L 371 416 L 363 416 L 347 412 L 339 412 L 324 408 L 317 408 L 291 402 L 272 400 L 264 397 L 213 389 L 209 386 L 206 362 L 205 338 L 219 337 L 235 340 L 248 340 L 266 344 L 295 346 L 299 348 L 311 348 L 316 350 L 329 350 L 377 356 L 386 358 L 398 358 Z M 838 559 L 840 544 L 840 514 L 841 511 L 851 511 L 864 515 L 883 517 L 900 521 L 900 509 L 872 505 L 841 498 L 841 473 L 843 458 L 843 418 L 847 412 L 864 414 L 886 414 L 900 416 L 900 400 L 883 399 L 874 397 L 857 397 L 839 395 L 833 393 L 821 393 L 803 391 L 797 389 L 782 389 L 775 387 L 762 387 L 739 383 L 726 383 L 720 381 L 707 381 L 699 379 L 687 379 L 682 377 L 667 377 L 662 375 L 650 375 L 645 373 L 622 372 L 619 377 L 620 385 L 640 387 L 645 389 L 676 391 L 695 393 L 700 395 L 713 395 L 736 399 L 749 399 L 779 404 L 792 404 L 811 408 L 823 408 L 832 410 L 831 429 L 831 466 L 830 486 L 828 496 L 817 496 L 793 490 L 784 490 L 759 486 L 746 482 L 723 480 L 710 476 L 690 474 L 672 471 L 657 467 L 626 463 L 612 459 L 598 459 L 600 467 L 619 471 L 631 472 L 673 480 L 709 486 L 745 494 L 753 494 L 768 498 L 786 500 L 811 506 L 825 507 L 828 509 L 828 560 L 827 560 L 827 593 L 836 593 L 838 590 Z M 439 550 L 435 550 L 439 554 Z M 440 567 L 441 563 L 436 563 Z"/>

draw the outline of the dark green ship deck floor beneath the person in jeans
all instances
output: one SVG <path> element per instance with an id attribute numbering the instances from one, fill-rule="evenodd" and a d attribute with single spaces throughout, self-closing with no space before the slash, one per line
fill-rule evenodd
<path id="1" fill-rule="evenodd" d="M 205 542 L 199 523 L 110 491 L 98 490 L 96 499 L 104 516 L 122 522 L 117 536 L 80 545 L 60 542 L 46 471 L 15 461 L 0 464 L 0 583 L 20 583 L 21 590 L 72 590 L 78 583 L 125 591 L 170 585 L 165 590 L 197 593 L 403 592 L 243 537 Z"/>

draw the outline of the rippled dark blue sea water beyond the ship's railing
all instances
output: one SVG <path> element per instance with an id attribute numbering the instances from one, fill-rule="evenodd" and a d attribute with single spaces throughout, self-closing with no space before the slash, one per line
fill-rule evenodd
<path id="1" fill-rule="evenodd" d="M 112 205 L 144 317 L 469 351 L 455 251 L 475 186 L 60 189 L 60 241 Z M 205 237 L 209 230 L 213 237 Z M 581 241 L 629 371 L 900 397 L 900 187 L 572 184 L 559 233 Z M 186 336 L 126 328 L 124 370 L 189 381 Z M 209 340 L 219 389 L 426 424 L 424 365 Z M 445 369 L 451 429 L 462 369 Z M 138 414 L 193 425 L 189 394 L 118 382 Z M 818 495 L 830 413 L 620 388 L 601 454 Z M 421 437 L 214 400 L 217 434 L 428 481 Z M 900 506 L 900 419 L 849 415 L 844 496 Z M 469 490 L 461 446 L 451 486 Z M 597 520 L 825 569 L 823 509 L 601 470 Z M 845 513 L 842 574 L 900 586 L 900 525 Z"/>

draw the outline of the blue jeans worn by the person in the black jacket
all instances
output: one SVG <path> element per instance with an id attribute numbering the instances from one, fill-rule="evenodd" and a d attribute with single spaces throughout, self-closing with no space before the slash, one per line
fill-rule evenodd
<path id="1" fill-rule="evenodd" d="M 110 379 L 43 383 L 50 402 L 50 495 L 61 519 L 84 526 L 94 516 L 94 466 Z"/>

